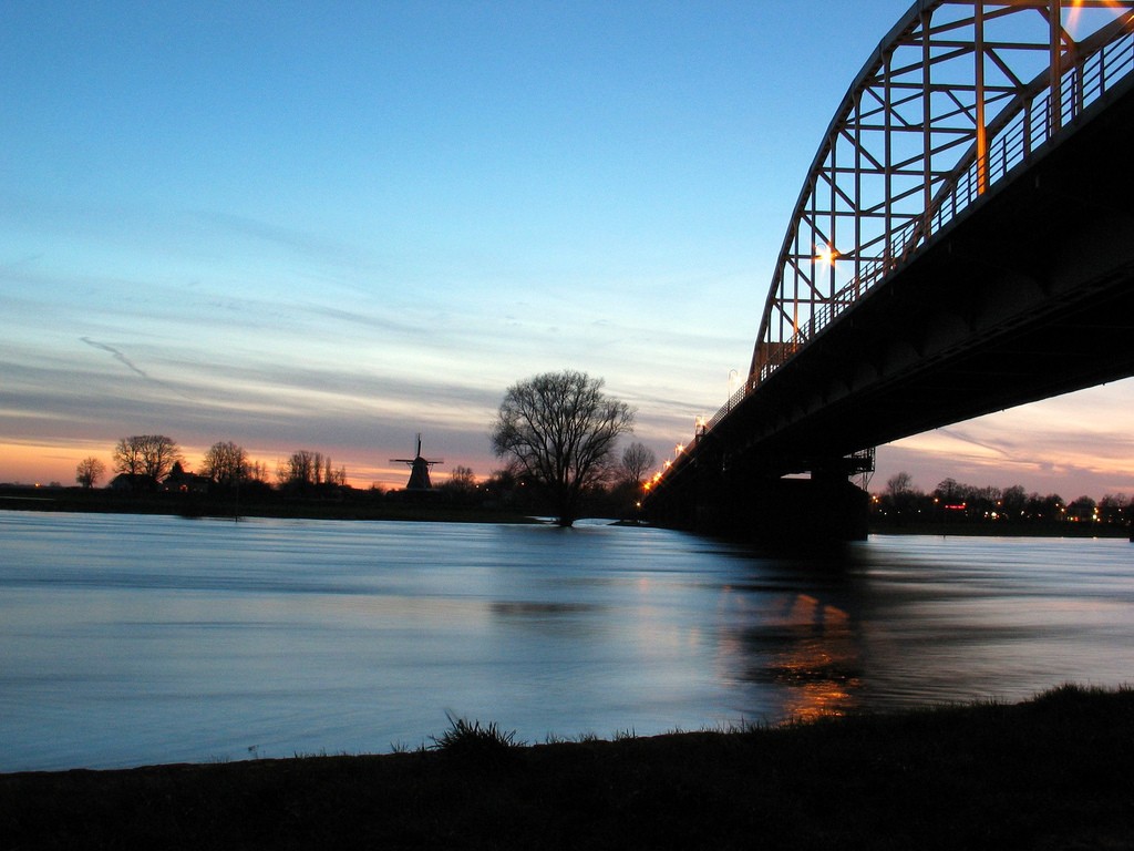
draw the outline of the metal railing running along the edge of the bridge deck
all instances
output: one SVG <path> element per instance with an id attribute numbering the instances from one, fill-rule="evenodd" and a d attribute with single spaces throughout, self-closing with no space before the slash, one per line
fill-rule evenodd
<path id="1" fill-rule="evenodd" d="M 718 426 L 772 372 L 813 340 L 889 272 L 909 260 L 930 236 L 939 233 L 972 205 L 982 194 L 982 183 L 985 187 L 991 187 L 1004 180 L 1035 149 L 1053 138 L 1116 83 L 1132 73 L 1134 73 L 1134 32 L 1127 31 L 1064 71 L 1060 78 L 1058 120 L 1053 120 L 1056 109 L 1052 106 L 1050 87 L 1044 87 L 1029 99 L 1023 109 L 1017 110 L 1016 115 L 999 129 L 989 145 L 987 157 L 971 162 L 953 180 L 951 186 L 947 185 L 946 192 L 939 194 L 938 203 L 925 216 L 895 230 L 882 256 L 864 264 L 857 277 L 830 300 L 816 305 L 807 321 L 788 340 L 769 347 L 759 372 L 748 376 L 728 402 L 708 420 L 701 433 Z"/>

